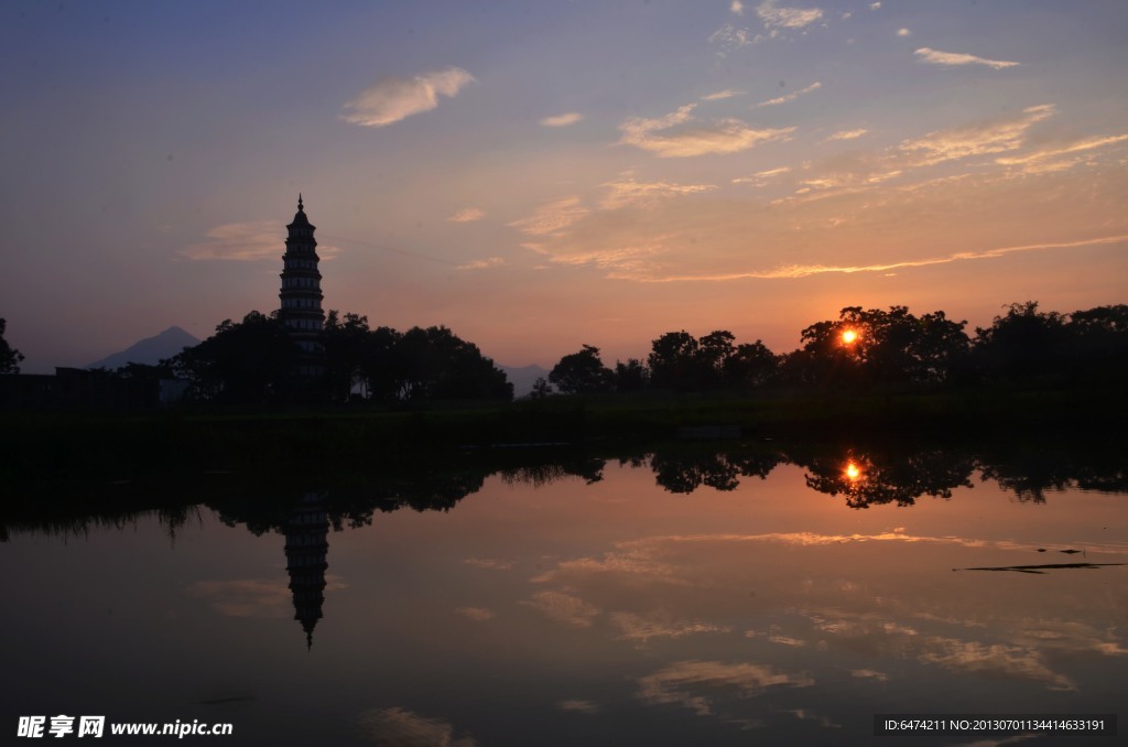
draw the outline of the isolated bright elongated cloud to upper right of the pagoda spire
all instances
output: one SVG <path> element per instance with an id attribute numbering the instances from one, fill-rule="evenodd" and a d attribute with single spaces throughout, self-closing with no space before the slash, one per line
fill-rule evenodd
<path id="1" fill-rule="evenodd" d="M 364 128 L 382 128 L 413 114 L 430 112 L 439 106 L 439 97 L 452 97 L 474 76 L 461 68 L 425 72 L 414 78 L 381 78 L 344 105 L 345 122 Z"/>

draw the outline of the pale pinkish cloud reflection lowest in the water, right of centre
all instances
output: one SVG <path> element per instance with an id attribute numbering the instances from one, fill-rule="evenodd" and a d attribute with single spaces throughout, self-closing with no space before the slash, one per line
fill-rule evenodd
<path id="1" fill-rule="evenodd" d="M 720 696 L 755 697 L 769 687 L 810 687 L 807 674 L 777 671 L 767 665 L 678 661 L 638 678 L 638 697 L 651 704 L 673 703 L 698 715 L 713 715 Z"/>

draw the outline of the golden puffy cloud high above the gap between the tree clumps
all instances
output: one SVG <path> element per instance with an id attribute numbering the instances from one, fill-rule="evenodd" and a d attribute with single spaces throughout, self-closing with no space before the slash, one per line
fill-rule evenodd
<path id="1" fill-rule="evenodd" d="M 755 129 L 737 118 L 702 122 L 694 118 L 696 104 L 687 104 L 661 117 L 632 117 L 619 125 L 624 144 L 649 150 L 660 158 L 686 158 L 735 153 L 761 142 L 787 140 L 795 128 Z"/>

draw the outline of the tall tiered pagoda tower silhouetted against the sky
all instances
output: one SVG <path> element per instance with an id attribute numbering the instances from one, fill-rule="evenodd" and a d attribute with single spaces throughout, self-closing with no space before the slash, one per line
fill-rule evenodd
<path id="1" fill-rule="evenodd" d="M 321 311 L 321 273 L 317 270 L 316 226 L 306 218 L 298 195 L 298 213 L 287 228 L 285 254 L 282 255 L 282 322 L 290 337 L 301 348 L 297 374 L 311 378 L 325 374 L 325 344 L 321 340 L 325 313 Z"/>

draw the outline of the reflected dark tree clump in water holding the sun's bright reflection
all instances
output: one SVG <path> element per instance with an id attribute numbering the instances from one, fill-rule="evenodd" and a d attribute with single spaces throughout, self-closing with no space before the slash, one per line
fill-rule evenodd
<path id="1" fill-rule="evenodd" d="M 857 509 L 879 503 L 913 506 L 922 495 L 946 500 L 953 489 L 972 486 L 975 467 L 971 457 L 942 450 L 819 456 L 797 464 L 810 471 L 808 487 L 845 495 L 846 504 Z"/>

